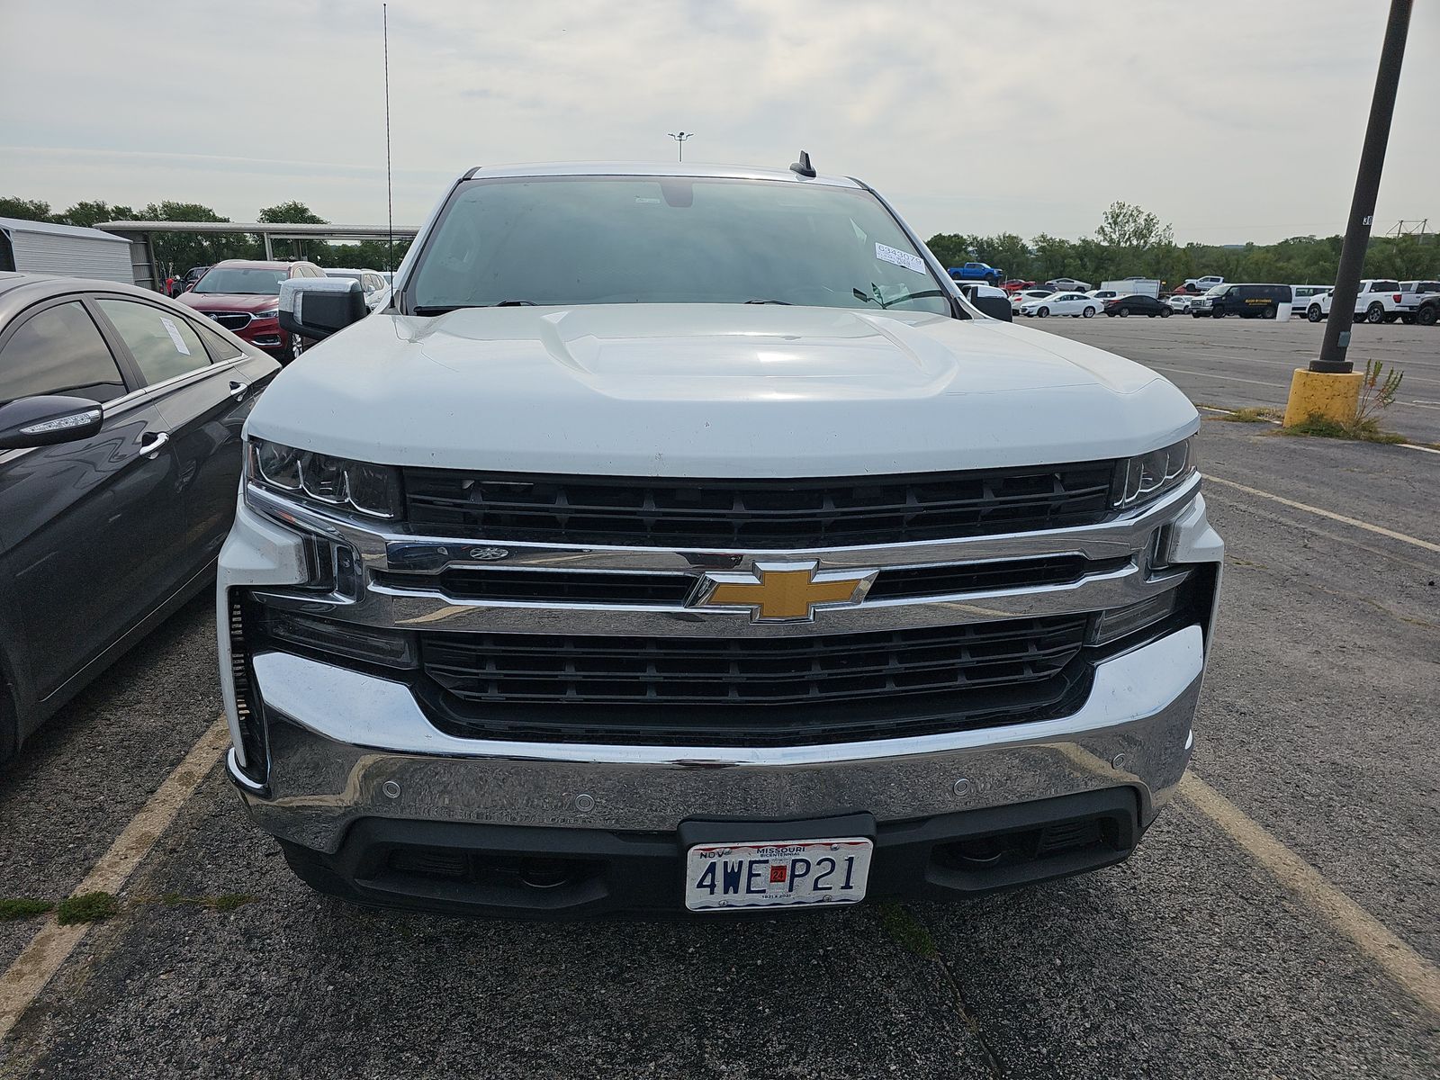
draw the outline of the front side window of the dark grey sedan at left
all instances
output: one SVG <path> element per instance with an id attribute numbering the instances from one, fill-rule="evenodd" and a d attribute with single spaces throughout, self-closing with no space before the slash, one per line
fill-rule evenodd
<path id="1" fill-rule="evenodd" d="M 79 301 L 32 315 L 0 350 L 0 405 L 40 393 L 92 402 L 125 393 L 115 357 Z"/>

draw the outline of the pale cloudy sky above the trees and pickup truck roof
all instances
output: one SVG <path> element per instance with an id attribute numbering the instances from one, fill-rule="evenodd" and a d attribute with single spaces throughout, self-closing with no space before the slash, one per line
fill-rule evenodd
<path id="1" fill-rule="evenodd" d="M 1440 1 L 1410 29 L 1377 232 L 1440 225 Z M 822 171 L 922 236 L 1089 233 L 1115 199 L 1181 240 L 1344 228 L 1381 0 L 395 0 L 395 216 L 472 164 Z M 379 0 L 0 0 L 0 194 L 287 199 L 384 220 Z"/>

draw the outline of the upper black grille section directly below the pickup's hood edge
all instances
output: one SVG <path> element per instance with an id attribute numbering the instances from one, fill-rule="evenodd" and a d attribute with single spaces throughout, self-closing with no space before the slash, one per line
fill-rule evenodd
<path id="1" fill-rule="evenodd" d="M 1110 513 L 1113 461 L 819 480 L 405 469 L 412 528 L 442 536 L 747 550 L 1068 528 Z"/>

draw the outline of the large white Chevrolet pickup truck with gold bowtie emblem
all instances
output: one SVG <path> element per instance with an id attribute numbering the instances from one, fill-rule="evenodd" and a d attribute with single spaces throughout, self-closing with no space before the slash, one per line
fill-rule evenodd
<path id="1" fill-rule="evenodd" d="M 484 167 L 245 429 L 229 775 L 314 887 L 575 917 L 1123 860 L 1220 583 L 1195 409 L 992 320 L 870 187 Z"/>

